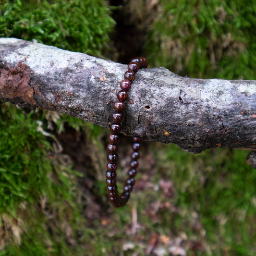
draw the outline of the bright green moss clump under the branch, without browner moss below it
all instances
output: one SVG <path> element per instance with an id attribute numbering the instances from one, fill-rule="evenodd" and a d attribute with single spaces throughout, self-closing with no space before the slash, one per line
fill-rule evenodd
<path id="1" fill-rule="evenodd" d="M 0 110 L 0 212 L 42 196 L 49 188 L 51 171 L 50 144 L 37 132 L 34 111 L 24 115 L 23 110 L 6 106 Z"/>

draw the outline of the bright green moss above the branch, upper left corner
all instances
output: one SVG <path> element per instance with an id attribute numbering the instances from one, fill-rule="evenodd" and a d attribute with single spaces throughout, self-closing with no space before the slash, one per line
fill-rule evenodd
<path id="1" fill-rule="evenodd" d="M 102 0 L 6 0 L 0 10 L 0 37 L 91 55 L 102 53 L 114 25 Z"/>

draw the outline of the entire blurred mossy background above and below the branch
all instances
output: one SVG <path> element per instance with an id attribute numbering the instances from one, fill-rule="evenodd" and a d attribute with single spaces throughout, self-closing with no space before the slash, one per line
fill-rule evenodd
<path id="1" fill-rule="evenodd" d="M 256 79 L 255 14 L 252 0 L 0 0 L 0 37 L 123 63 L 145 55 L 190 77 Z M 0 125 L 0 255 L 256 255 L 248 152 L 145 142 L 131 200 L 113 209 L 108 131 L 9 103 Z"/>

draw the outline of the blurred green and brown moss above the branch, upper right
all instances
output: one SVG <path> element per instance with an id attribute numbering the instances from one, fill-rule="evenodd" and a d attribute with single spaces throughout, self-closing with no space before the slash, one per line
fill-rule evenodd
<path id="1" fill-rule="evenodd" d="M 146 44 L 149 63 L 191 77 L 255 79 L 256 4 L 161 0 Z"/>

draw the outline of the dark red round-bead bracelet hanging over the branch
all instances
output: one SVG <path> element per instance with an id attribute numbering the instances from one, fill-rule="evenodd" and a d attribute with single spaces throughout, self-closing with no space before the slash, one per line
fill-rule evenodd
<path id="1" fill-rule="evenodd" d="M 128 171 L 128 179 L 123 186 L 123 192 L 121 195 L 118 193 L 116 184 L 116 169 L 117 169 L 117 149 L 120 141 L 120 132 L 122 131 L 121 122 L 123 119 L 123 110 L 125 108 L 124 101 L 128 98 L 127 91 L 131 88 L 132 82 L 135 78 L 135 73 L 140 68 L 147 68 L 147 61 L 144 57 L 133 58 L 129 65 L 128 71 L 124 74 L 124 80 L 120 83 L 121 90 L 117 93 L 118 100 L 114 102 L 114 112 L 111 116 L 112 124 L 110 125 L 111 134 L 109 136 L 109 144 L 107 146 L 108 151 L 108 171 L 106 172 L 106 184 L 108 190 L 108 198 L 114 207 L 124 206 L 130 198 L 130 193 L 134 186 L 134 176 L 138 167 L 139 149 L 140 149 L 140 138 L 134 137 L 133 153 L 131 155 L 130 169 Z"/>

